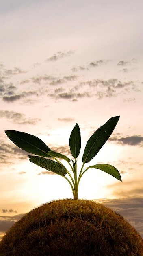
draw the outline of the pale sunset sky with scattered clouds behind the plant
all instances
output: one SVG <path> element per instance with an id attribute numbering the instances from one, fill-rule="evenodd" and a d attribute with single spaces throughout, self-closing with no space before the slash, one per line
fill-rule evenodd
<path id="1" fill-rule="evenodd" d="M 90 165 L 115 166 L 122 182 L 89 169 L 78 196 L 118 211 L 143 237 L 142 10 L 142 0 L 0 0 L 0 236 L 35 207 L 72 198 L 63 177 L 29 162 L 4 131 L 72 159 L 78 123 L 80 168 L 89 137 L 120 115 Z"/>

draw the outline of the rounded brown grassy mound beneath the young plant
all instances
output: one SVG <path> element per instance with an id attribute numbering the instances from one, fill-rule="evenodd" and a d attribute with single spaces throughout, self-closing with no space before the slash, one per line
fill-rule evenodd
<path id="1" fill-rule="evenodd" d="M 143 256 L 122 216 L 89 200 L 55 200 L 30 211 L 0 242 L 0 256 Z"/>

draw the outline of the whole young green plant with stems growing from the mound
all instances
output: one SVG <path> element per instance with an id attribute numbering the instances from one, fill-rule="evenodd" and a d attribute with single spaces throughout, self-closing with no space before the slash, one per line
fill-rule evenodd
<path id="1" fill-rule="evenodd" d="M 64 177 L 69 182 L 72 188 L 74 199 L 78 199 L 78 186 L 80 179 L 89 168 L 100 169 L 112 175 L 116 179 L 122 181 L 119 171 L 110 164 L 95 164 L 92 166 L 88 166 L 84 169 L 85 163 L 90 162 L 91 159 L 93 159 L 93 157 L 97 155 L 99 150 L 111 136 L 119 120 L 119 117 L 120 116 L 111 117 L 111 119 L 109 119 L 103 126 L 98 128 L 98 130 L 96 130 L 89 138 L 82 156 L 83 164 L 79 175 L 77 173 L 77 158 L 81 148 L 81 137 L 78 124 L 74 126 L 74 129 L 72 130 L 69 138 L 70 150 L 72 156 L 74 157 L 74 160 L 72 159 L 72 162 L 67 156 L 52 151 L 41 139 L 37 138 L 34 135 L 15 130 L 7 130 L 5 131 L 5 133 L 9 137 L 9 139 L 15 143 L 15 145 L 22 148 L 28 153 L 38 155 L 29 155 L 30 162 Z M 52 158 L 54 160 L 49 158 Z M 61 163 L 59 159 L 63 159 L 69 164 L 70 168 L 73 171 L 73 175 L 71 175 L 71 173 L 67 170 L 67 168 L 63 165 L 63 163 Z M 68 178 L 65 176 L 66 174 L 69 175 Z"/>

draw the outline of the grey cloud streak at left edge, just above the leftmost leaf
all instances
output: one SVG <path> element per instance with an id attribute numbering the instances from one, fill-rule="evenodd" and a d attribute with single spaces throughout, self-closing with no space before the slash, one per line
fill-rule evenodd
<path id="1" fill-rule="evenodd" d="M 37 124 L 41 119 L 39 118 L 26 118 L 24 114 L 8 111 L 8 110 L 0 110 L 0 117 L 5 117 L 9 119 L 9 121 L 16 122 L 17 124 Z"/>

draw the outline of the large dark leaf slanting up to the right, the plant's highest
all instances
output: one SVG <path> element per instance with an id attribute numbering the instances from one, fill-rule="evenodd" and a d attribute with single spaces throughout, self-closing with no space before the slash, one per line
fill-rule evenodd
<path id="1" fill-rule="evenodd" d="M 111 119 L 109 119 L 103 126 L 98 128 L 98 130 L 95 131 L 89 138 L 82 157 L 83 163 L 88 163 L 91 161 L 91 159 L 93 159 L 93 157 L 95 157 L 95 155 L 97 155 L 99 150 L 102 148 L 102 146 L 105 144 L 115 129 L 119 117 L 120 116 L 111 117 Z"/>

